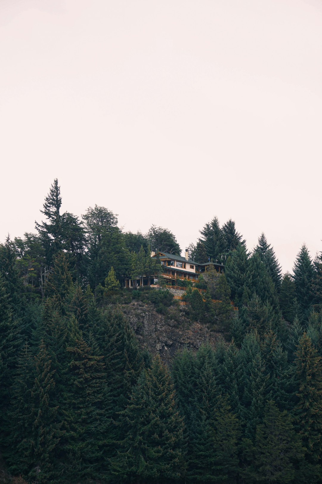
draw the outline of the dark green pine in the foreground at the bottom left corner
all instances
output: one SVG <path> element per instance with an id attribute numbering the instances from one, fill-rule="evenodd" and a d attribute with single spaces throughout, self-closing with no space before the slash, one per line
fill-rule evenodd
<path id="1" fill-rule="evenodd" d="M 11 443 L 15 453 L 9 454 L 8 461 L 12 472 L 23 473 L 39 483 L 51 483 L 57 477 L 55 448 L 61 436 L 56 423 L 57 407 L 52 403 L 54 371 L 43 342 L 34 362 L 28 346 L 24 353 L 20 357 L 11 410 L 14 420 Z"/>

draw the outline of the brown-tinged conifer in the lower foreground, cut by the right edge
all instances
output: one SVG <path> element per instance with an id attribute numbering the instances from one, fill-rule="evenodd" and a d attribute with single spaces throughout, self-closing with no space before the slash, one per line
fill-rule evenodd
<path id="1" fill-rule="evenodd" d="M 295 422 L 307 459 L 315 464 L 322 453 L 321 357 L 306 333 L 300 338 L 295 355 L 298 384 L 298 402 L 294 408 Z"/>

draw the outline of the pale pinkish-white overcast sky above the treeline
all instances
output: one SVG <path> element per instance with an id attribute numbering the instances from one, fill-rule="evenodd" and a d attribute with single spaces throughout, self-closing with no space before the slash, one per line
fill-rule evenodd
<path id="1" fill-rule="evenodd" d="M 0 0 L 0 241 L 95 203 L 322 250 L 320 0 Z"/>

